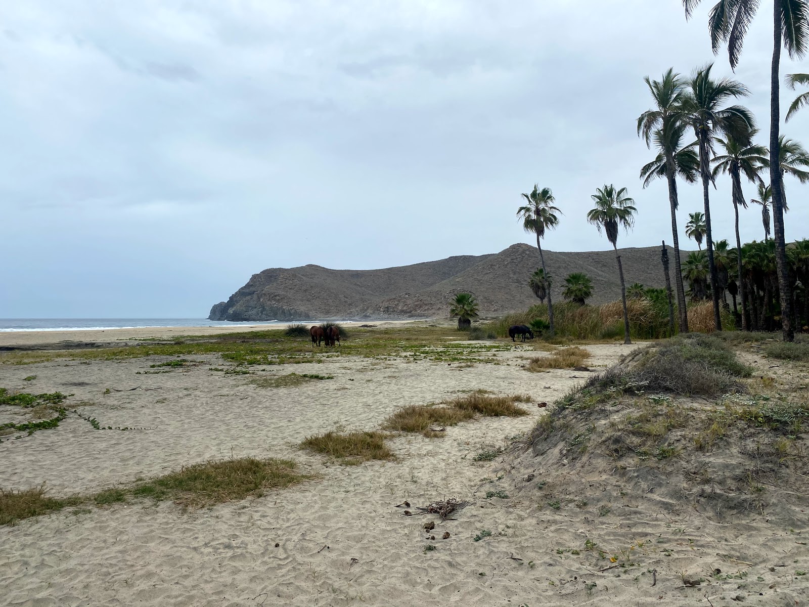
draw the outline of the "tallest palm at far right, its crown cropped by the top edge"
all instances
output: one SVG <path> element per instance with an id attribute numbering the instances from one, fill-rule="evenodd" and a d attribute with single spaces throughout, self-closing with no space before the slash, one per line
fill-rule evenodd
<path id="1" fill-rule="evenodd" d="M 685 15 L 690 17 L 701 0 L 683 0 Z M 781 128 L 781 46 L 790 57 L 803 57 L 809 40 L 809 0 L 773 0 L 773 61 L 769 74 L 769 181 L 773 186 L 773 224 L 775 227 L 778 291 L 781 297 L 781 312 L 786 320 L 781 322 L 785 342 L 794 342 L 795 332 L 790 302 L 789 267 L 786 260 L 784 236 L 784 198 L 778 160 L 778 134 Z M 735 70 L 742 53 L 744 36 L 758 10 L 758 0 L 719 0 L 709 14 L 708 29 L 714 53 L 727 43 L 727 54 Z"/>

